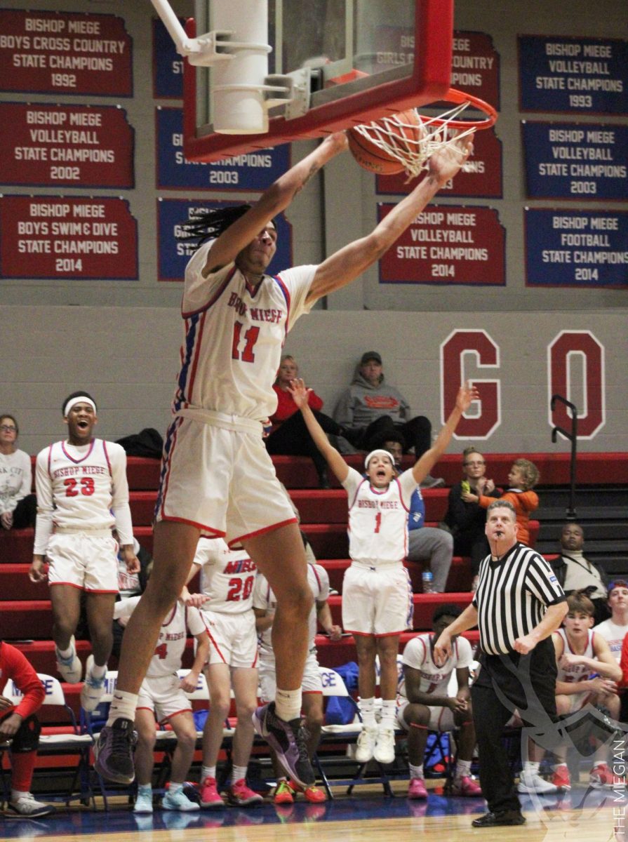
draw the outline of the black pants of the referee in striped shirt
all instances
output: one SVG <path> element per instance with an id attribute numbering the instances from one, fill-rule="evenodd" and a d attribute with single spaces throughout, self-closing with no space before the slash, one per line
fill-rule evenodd
<path id="1" fill-rule="evenodd" d="M 524 724 L 536 733 L 551 733 L 556 722 L 554 645 L 548 637 L 527 655 L 482 653 L 480 663 L 482 669 L 471 686 L 471 702 L 482 794 L 491 813 L 519 810 L 503 727 L 517 710 Z"/>

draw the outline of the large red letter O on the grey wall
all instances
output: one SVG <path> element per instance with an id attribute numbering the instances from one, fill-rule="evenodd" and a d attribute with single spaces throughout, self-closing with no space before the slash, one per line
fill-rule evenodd
<path id="1" fill-rule="evenodd" d="M 561 395 L 576 404 L 577 437 L 593 439 L 606 423 L 604 346 L 588 330 L 563 330 L 547 349 L 547 367 L 548 406 L 552 395 Z M 576 382 L 576 376 L 581 376 L 582 381 Z M 583 396 L 581 401 L 573 397 L 576 386 Z M 552 428 L 571 431 L 572 418 L 564 403 L 556 402 L 554 412 L 548 411 Z"/>

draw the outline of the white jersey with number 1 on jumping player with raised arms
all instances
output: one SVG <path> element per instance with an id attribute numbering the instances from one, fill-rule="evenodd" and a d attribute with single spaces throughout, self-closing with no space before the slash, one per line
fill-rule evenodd
<path id="1" fill-rule="evenodd" d="M 373 488 L 354 468 L 343 482 L 349 495 L 349 556 L 354 561 L 402 562 L 407 556 L 407 516 L 417 482 L 412 471 L 388 488 Z"/>

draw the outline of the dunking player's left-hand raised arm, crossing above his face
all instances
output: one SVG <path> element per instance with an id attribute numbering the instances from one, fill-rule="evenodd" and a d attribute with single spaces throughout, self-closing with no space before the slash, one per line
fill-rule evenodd
<path id="1" fill-rule="evenodd" d="M 281 210 L 285 210 L 295 195 L 307 184 L 313 175 L 327 161 L 347 148 L 347 136 L 343 131 L 329 135 L 309 155 L 295 163 L 261 195 L 256 205 L 222 232 L 210 248 L 203 274 L 225 266 L 235 260 L 237 254 L 256 237 L 263 227 Z"/>

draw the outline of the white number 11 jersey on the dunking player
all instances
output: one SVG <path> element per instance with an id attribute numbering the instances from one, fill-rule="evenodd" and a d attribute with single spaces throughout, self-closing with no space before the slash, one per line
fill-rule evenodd
<path id="1" fill-rule="evenodd" d="M 203 277 L 211 242 L 185 269 L 184 344 L 173 412 L 209 409 L 264 421 L 277 408 L 273 382 L 285 336 L 309 310 L 306 296 L 317 266 L 264 275 L 252 290 L 234 264 Z"/>

